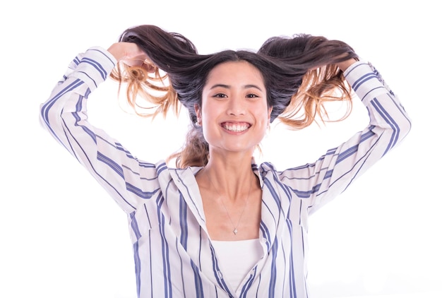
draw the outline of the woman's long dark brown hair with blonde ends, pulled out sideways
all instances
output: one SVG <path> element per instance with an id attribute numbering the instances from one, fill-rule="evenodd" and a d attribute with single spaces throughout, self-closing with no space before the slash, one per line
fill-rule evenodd
<path id="1" fill-rule="evenodd" d="M 166 32 L 155 25 L 129 28 L 121 42 L 135 42 L 148 55 L 149 67 L 119 65 L 112 78 L 127 83 L 129 104 L 143 117 L 164 116 L 181 105 L 186 107 L 191 126 L 186 143 L 169 159 L 177 167 L 204 166 L 208 162 L 208 143 L 196 124 L 195 105 L 201 106 L 201 95 L 210 71 L 223 62 L 247 61 L 261 71 L 267 91 L 267 102 L 273 107 L 270 121 L 280 119 L 291 129 L 303 129 L 316 121 L 328 121 L 325 102 L 345 101 L 350 113 L 351 88 L 335 64 L 357 59 L 353 49 L 338 40 L 311 35 L 272 37 L 258 50 L 225 50 L 201 55 L 183 35 Z M 147 70 L 148 69 L 148 70 Z M 139 105 L 140 97 L 148 107 Z"/>

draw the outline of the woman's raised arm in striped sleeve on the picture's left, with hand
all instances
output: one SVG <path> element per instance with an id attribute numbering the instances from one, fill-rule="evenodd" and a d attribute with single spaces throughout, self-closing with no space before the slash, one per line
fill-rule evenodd
<path id="1" fill-rule="evenodd" d="M 156 177 L 155 165 L 140 162 L 120 143 L 88 122 L 87 98 L 111 73 L 117 61 L 142 63 L 135 44 L 119 43 L 109 52 L 92 47 L 71 62 L 68 71 L 40 107 L 42 126 L 92 174 L 127 213 L 157 189 L 143 189 L 141 179 Z M 143 186 L 144 187 L 144 186 Z"/>

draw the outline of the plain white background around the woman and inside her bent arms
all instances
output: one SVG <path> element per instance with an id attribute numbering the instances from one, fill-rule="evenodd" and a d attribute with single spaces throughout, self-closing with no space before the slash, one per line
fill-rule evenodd
<path id="1" fill-rule="evenodd" d="M 442 297 L 439 12 L 426 0 L 42 0 L 2 7 L 0 297 L 136 297 L 126 216 L 40 128 L 38 113 L 78 52 L 108 47 L 124 29 L 145 23 L 180 32 L 201 54 L 309 33 L 343 40 L 371 61 L 413 129 L 311 217 L 311 296 Z M 150 162 L 179 148 L 185 113 L 151 123 L 122 112 L 116 90 L 107 81 L 92 94 L 93 124 Z M 299 132 L 273 126 L 257 159 L 280 169 L 313 162 L 365 124 L 355 101 L 352 117 L 339 124 Z"/>

